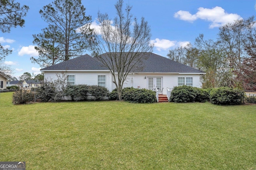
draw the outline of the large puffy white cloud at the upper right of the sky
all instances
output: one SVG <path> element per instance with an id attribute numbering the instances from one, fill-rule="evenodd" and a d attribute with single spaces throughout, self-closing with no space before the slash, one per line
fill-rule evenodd
<path id="1" fill-rule="evenodd" d="M 197 19 L 210 21 L 210 28 L 220 27 L 226 23 L 234 22 L 234 20 L 242 19 L 238 14 L 228 14 L 225 10 L 219 6 L 212 9 L 209 8 L 198 8 L 198 12 L 194 15 L 188 11 L 178 11 L 174 14 L 175 18 L 184 21 L 193 22 Z"/>

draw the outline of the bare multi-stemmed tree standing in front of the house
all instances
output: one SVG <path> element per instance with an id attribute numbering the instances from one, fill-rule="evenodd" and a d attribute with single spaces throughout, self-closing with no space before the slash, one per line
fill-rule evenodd
<path id="1" fill-rule="evenodd" d="M 131 6 L 127 5 L 125 14 L 123 12 L 123 0 L 115 4 L 117 16 L 112 21 L 108 14 L 98 13 L 101 34 L 97 37 L 97 44 L 94 54 L 109 68 L 113 76 L 113 82 L 118 91 L 118 98 L 122 100 L 122 87 L 129 72 L 138 67 L 145 52 L 151 52 L 150 27 L 144 18 L 140 23 L 136 18 L 132 20 Z"/>

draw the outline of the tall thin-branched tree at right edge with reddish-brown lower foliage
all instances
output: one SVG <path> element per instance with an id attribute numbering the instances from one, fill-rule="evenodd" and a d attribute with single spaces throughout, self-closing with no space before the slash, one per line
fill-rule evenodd
<path id="1" fill-rule="evenodd" d="M 228 63 L 234 74 L 236 86 L 256 90 L 255 75 L 255 21 L 254 17 L 236 20 L 220 27 L 219 41 L 228 54 Z"/>

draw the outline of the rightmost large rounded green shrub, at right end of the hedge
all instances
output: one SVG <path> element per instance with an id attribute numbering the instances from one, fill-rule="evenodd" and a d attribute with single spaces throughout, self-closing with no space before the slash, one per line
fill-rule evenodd
<path id="1" fill-rule="evenodd" d="M 242 104 L 244 99 L 244 90 L 238 88 L 220 87 L 212 89 L 210 92 L 210 102 L 220 105 Z"/>

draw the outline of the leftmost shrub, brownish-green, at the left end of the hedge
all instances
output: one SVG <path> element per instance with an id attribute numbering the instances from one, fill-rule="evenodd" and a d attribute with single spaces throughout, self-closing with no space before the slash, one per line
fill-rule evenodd
<path id="1" fill-rule="evenodd" d="M 27 104 L 34 101 L 34 92 L 30 90 L 17 90 L 12 95 L 13 104 Z"/>

